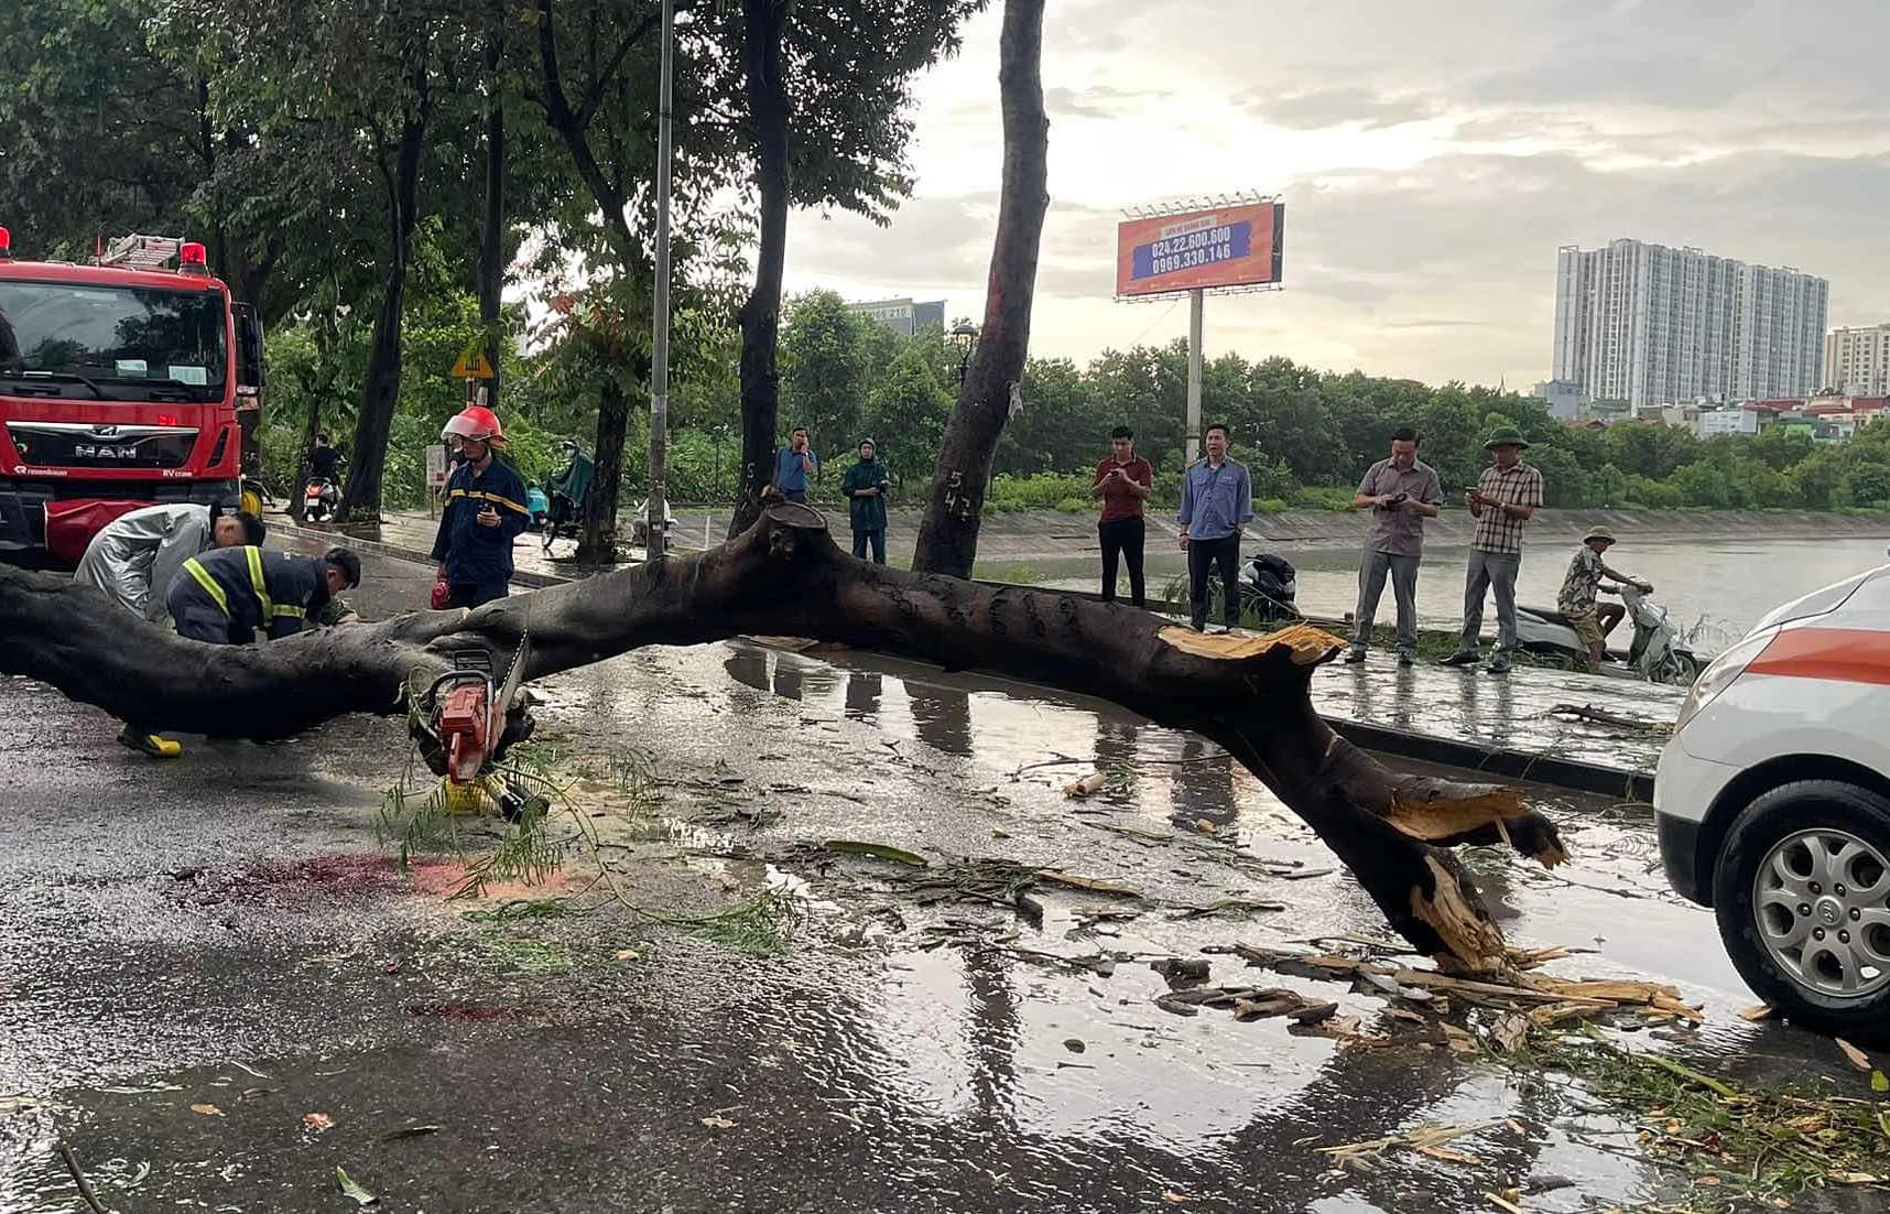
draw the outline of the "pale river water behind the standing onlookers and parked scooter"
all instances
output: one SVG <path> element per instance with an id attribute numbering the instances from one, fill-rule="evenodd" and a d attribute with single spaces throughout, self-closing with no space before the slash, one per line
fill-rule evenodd
<path id="1" fill-rule="evenodd" d="M 1847 579 L 1884 564 L 1884 539 L 1847 535 L 1839 539 L 1665 539 L 1629 541 L 1608 552 L 1608 565 L 1654 582 L 1656 601 L 1667 607 L 1682 628 L 1693 632 L 1701 652 L 1718 652 L 1758 622 L 1773 607 L 1809 594 L 1818 586 Z M 1298 569 L 1298 605 L 1308 615 L 1342 616 L 1359 596 L 1359 552 L 1355 548 L 1293 543 L 1246 545 L 1247 554 L 1278 552 Z M 1529 605 L 1554 607 L 1572 545 L 1529 545 L 1516 598 Z M 1418 615 L 1425 628 L 1455 628 L 1463 618 L 1463 565 L 1469 550 L 1433 546 L 1418 577 Z M 1179 548 L 1149 537 L 1149 596 L 1187 575 Z M 1036 565 L 1051 586 L 1096 588 L 1094 560 L 1051 560 Z M 1123 594 L 1126 594 L 1126 579 Z M 1177 588 L 1185 596 L 1185 586 Z M 1395 607 L 1387 588 L 1378 609 L 1382 624 L 1393 622 Z M 1493 607 L 1484 624 L 1493 626 Z"/>

